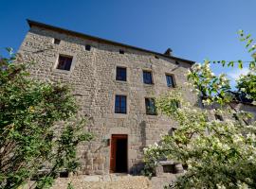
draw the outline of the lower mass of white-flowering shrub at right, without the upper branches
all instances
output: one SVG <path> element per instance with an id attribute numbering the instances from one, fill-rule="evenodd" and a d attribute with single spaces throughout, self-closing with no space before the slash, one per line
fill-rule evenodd
<path id="1" fill-rule="evenodd" d="M 177 98 L 181 108 L 170 111 L 170 104 Z M 255 123 L 247 126 L 231 119 L 209 121 L 208 111 L 192 107 L 175 92 L 158 98 L 157 110 L 172 117 L 179 127 L 173 135 L 163 136 L 159 145 L 144 149 L 147 167 L 155 168 L 164 158 L 187 164 L 188 170 L 178 177 L 174 188 L 256 187 Z M 219 114 L 223 111 L 214 110 Z M 231 115 L 228 109 L 225 112 Z"/>

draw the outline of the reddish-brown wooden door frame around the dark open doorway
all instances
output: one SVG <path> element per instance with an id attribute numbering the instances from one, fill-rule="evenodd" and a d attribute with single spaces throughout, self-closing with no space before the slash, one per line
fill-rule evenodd
<path id="1" fill-rule="evenodd" d="M 126 172 L 128 172 L 128 134 L 112 134 L 111 140 L 110 140 L 110 167 L 109 172 L 115 173 L 116 172 L 116 158 L 117 158 L 117 139 L 126 139 L 127 140 L 127 146 L 126 146 Z"/>

